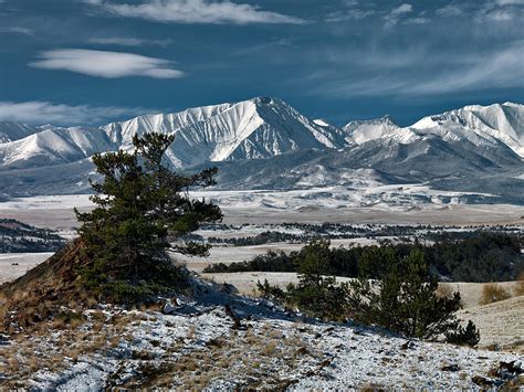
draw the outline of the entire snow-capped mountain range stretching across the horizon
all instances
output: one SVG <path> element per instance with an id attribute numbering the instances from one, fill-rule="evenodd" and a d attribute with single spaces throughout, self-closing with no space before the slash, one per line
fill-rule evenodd
<path id="1" fill-rule="evenodd" d="M 129 149 L 134 135 L 149 131 L 177 135 L 167 152 L 176 168 L 218 166 L 221 189 L 423 183 L 524 203 L 524 105 L 465 106 L 409 127 L 386 116 L 338 128 L 268 97 L 98 128 L 2 121 L 0 192 L 85 192 L 93 153 Z"/>

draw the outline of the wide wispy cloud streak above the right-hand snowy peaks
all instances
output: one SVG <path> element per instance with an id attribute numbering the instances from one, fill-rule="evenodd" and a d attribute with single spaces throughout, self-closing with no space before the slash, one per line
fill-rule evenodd
<path id="1" fill-rule="evenodd" d="M 421 53 L 405 53 L 406 63 L 392 70 L 384 64 L 373 74 L 343 80 L 321 74 L 313 93 L 342 97 L 355 96 L 436 96 L 460 92 L 524 87 L 524 41 L 474 54 L 463 53 L 453 62 L 431 57 L 420 63 Z M 388 56 L 389 59 L 389 56 Z M 416 65 L 417 64 L 417 65 Z M 379 64 L 376 63 L 376 66 Z M 394 72 L 392 72 L 394 71 Z M 325 83 L 322 83 L 325 81 Z"/>

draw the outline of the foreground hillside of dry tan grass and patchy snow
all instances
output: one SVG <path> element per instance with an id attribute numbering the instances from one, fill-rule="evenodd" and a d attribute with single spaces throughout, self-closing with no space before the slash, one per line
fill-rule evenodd
<path id="1" fill-rule="evenodd" d="M 198 278 L 191 296 L 64 307 L 36 330 L 0 336 L 0 384 L 21 389 L 522 388 L 522 372 L 517 353 L 325 324 Z"/>

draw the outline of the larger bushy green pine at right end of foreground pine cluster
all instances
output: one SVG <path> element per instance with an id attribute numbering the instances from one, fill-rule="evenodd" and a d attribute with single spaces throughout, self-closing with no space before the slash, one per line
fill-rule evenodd
<path id="1" fill-rule="evenodd" d="M 349 284 L 354 319 L 425 339 L 455 329 L 460 294 L 452 298 L 436 295 L 438 279 L 430 275 L 423 253 L 413 250 L 406 257 L 387 256 L 378 279 L 370 280 L 364 274 Z"/>

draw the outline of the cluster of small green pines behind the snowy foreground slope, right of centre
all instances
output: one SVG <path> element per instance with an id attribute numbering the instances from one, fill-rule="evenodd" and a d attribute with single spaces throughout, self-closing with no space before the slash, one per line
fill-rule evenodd
<path id="1" fill-rule="evenodd" d="M 460 294 L 437 295 L 438 279 L 420 248 L 399 255 L 391 247 L 368 247 L 360 257 L 359 277 L 349 284 L 338 284 L 329 275 L 332 255 L 328 241 L 312 241 L 294 254 L 298 284 L 282 290 L 264 280 L 258 283 L 258 290 L 313 317 L 340 320 L 350 316 L 421 339 L 447 333 L 448 339 L 472 343 L 479 337 L 473 324 L 465 329 L 459 326 Z M 378 278 L 369 279 L 370 274 Z"/>

